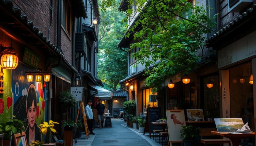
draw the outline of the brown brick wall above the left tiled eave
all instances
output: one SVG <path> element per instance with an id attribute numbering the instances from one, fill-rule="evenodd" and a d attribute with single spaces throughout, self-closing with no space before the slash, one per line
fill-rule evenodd
<path id="1" fill-rule="evenodd" d="M 50 0 L 13 0 L 15 7 L 20 8 L 21 14 L 26 15 L 28 20 L 33 21 L 34 26 L 39 28 L 49 39 L 48 30 L 51 22 Z M 57 45 L 57 0 L 53 0 L 53 21 L 50 29 L 50 42 Z M 71 15 L 72 16 L 72 15 Z M 73 20 L 73 19 L 72 19 Z M 72 62 L 72 21 L 70 39 L 61 28 L 61 49 L 64 51 L 65 58 Z M 64 46 L 67 45 L 67 46 Z M 67 51 L 65 51 L 67 50 Z"/>

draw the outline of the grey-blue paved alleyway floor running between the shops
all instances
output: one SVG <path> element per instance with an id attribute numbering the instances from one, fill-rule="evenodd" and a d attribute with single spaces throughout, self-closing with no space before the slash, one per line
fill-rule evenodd
<path id="1" fill-rule="evenodd" d="M 95 128 L 96 135 L 91 135 L 89 139 L 86 139 L 86 135 L 83 134 L 74 146 L 151 146 L 140 135 L 122 126 L 123 120 L 111 120 L 112 128 Z"/>

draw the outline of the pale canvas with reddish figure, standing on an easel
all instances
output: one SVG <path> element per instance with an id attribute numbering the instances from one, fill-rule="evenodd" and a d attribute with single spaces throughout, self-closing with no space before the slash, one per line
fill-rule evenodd
<path id="1" fill-rule="evenodd" d="M 184 110 L 166 110 L 169 141 L 183 141 L 180 137 L 182 126 L 186 126 Z"/>

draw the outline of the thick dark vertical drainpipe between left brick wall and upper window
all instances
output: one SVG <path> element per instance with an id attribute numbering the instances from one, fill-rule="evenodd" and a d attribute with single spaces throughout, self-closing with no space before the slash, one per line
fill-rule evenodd
<path id="1" fill-rule="evenodd" d="M 61 49 L 61 0 L 58 0 L 58 10 L 57 10 L 57 49 Z"/>

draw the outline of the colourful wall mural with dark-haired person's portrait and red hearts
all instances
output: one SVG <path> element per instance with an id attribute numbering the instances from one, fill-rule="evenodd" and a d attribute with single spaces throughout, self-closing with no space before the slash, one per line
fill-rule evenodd
<path id="1" fill-rule="evenodd" d="M 43 80 L 27 82 L 25 72 L 37 70 L 23 64 L 19 64 L 15 70 L 0 68 L 0 122 L 13 114 L 25 122 L 28 143 L 41 140 L 37 126 L 47 121 L 48 103 L 48 91 L 43 88 Z"/>

